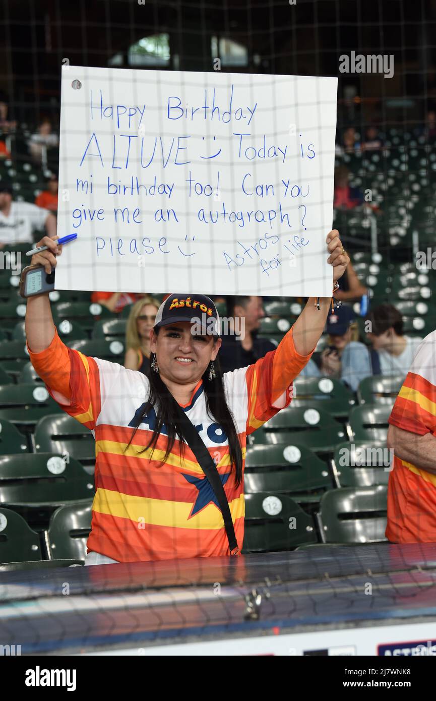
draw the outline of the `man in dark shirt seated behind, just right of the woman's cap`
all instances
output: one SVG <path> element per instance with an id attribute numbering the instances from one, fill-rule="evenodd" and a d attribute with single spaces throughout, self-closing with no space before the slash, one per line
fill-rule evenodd
<path id="1" fill-rule="evenodd" d="M 269 351 L 275 350 L 271 341 L 257 337 L 261 318 L 265 316 L 261 297 L 228 297 L 227 316 L 241 320 L 243 333 L 238 336 L 236 333 L 222 336 L 222 346 L 219 349 L 222 372 L 252 365 Z M 237 327 L 235 330 L 238 330 Z"/>

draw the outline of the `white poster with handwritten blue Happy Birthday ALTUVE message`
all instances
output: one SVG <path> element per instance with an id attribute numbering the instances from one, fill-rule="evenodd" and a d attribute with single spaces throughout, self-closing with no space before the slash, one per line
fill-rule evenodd
<path id="1" fill-rule="evenodd" d="M 57 289 L 330 296 L 336 89 L 63 67 Z"/>

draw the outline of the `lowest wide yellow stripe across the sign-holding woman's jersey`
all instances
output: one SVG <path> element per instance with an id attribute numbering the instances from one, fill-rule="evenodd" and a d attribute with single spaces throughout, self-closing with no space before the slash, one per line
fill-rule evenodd
<path id="1" fill-rule="evenodd" d="M 244 495 L 241 494 L 237 499 L 233 499 L 229 507 L 234 523 L 245 514 Z M 214 504 L 207 505 L 188 520 L 191 508 L 191 503 L 150 499 L 100 488 L 97 489 L 93 502 L 94 511 L 121 519 L 130 519 L 137 524 L 190 529 L 224 528 L 222 513 Z"/>

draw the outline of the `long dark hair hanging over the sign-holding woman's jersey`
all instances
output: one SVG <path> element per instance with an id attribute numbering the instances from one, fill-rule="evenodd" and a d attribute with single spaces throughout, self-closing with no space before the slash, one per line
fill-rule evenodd
<path id="1" fill-rule="evenodd" d="M 156 334 L 158 329 L 156 329 Z M 154 354 L 152 354 L 154 355 Z M 154 356 L 156 358 L 156 356 Z M 209 379 L 209 367 L 205 369 L 202 379 L 205 391 L 206 409 L 207 416 L 217 421 L 222 427 L 226 436 L 229 440 L 229 452 L 230 452 L 230 462 L 231 467 L 235 468 L 235 483 L 239 486 L 242 481 L 243 476 L 243 454 L 240 447 L 240 442 L 238 439 L 238 433 L 236 430 L 235 420 L 233 414 L 229 409 L 226 396 L 224 394 L 224 382 L 222 376 L 222 370 L 219 365 L 219 360 L 216 358 L 214 360 L 214 369 L 216 377 L 212 380 Z M 179 421 L 177 419 L 175 399 L 172 397 L 170 390 L 165 385 L 161 379 L 161 375 L 154 372 L 154 369 L 150 369 L 149 374 L 150 390 L 147 397 L 147 402 L 144 404 L 144 408 L 137 418 L 137 424 L 133 430 L 132 437 L 128 442 L 125 450 L 128 449 L 130 443 L 139 428 L 144 416 L 147 416 L 152 408 L 156 411 L 156 423 L 154 426 L 153 435 L 151 436 L 148 444 L 144 449 L 140 450 L 139 453 L 144 453 L 144 451 L 151 448 L 152 451 L 156 448 L 156 443 L 158 442 L 158 437 L 161 435 L 163 426 L 168 431 L 168 440 L 165 456 L 162 459 L 162 463 L 165 463 L 172 451 L 172 447 L 175 444 L 176 436 L 181 440 L 180 443 L 180 453 L 184 451 L 184 444 L 182 441 L 186 441 L 186 436 L 184 435 L 184 430 L 182 426 L 179 426 Z M 162 434 L 163 435 L 163 434 Z"/>

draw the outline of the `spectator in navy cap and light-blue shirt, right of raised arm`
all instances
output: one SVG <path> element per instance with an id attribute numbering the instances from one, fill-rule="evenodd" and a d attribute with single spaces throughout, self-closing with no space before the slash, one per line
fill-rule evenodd
<path id="1" fill-rule="evenodd" d="M 301 375 L 327 375 L 341 380 L 355 392 L 360 380 L 371 374 L 371 366 L 369 350 L 358 340 L 359 329 L 353 309 L 342 305 L 334 313 L 329 313 L 326 331 L 328 346 L 322 351 L 319 364 L 311 358 Z"/>

